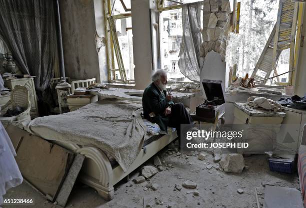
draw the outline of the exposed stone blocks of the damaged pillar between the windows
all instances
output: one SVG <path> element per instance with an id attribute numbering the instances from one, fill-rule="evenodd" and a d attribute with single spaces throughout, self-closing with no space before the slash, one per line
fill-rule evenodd
<path id="1" fill-rule="evenodd" d="M 203 43 L 200 56 L 205 58 L 213 50 L 225 61 L 226 41 L 231 27 L 229 0 L 204 0 L 203 4 Z"/>

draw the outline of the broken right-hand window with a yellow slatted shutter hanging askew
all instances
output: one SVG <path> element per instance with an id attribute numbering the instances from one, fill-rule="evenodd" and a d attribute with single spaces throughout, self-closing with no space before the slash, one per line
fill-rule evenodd
<path id="1" fill-rule="evenodd" d="M 240 0 L 239 33 L 230 33 L 226 51 L 226 62 L 230 66 L 236 65 L 236 76 L 248 73 L 258 81 L 282 74 L 256 84 L 291 84 L 293 72 L 287 72 L 294 68 L 297 15 L 301 12 L 297 5 L 285 1 L 282 9 L 282 1 L 279 0 Z M 277 35 L 274 35 L 276 32 Z"/>

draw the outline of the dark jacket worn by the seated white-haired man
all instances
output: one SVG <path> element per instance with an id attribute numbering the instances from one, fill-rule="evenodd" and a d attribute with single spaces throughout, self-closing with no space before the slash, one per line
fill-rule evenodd
<path id="1" fill-rule="evenodd" d="M 162 131 L 167 130 L 169 117 L 164 115 L 164 109 L 168 106 L 172 107 L 173 102 L 166 100 L 166 91 L 162 93 L 154 83 L 149 84 L 142 95 L 143 116 L 152 123 L 159 125 Z M 155 117 L 149 117 L 149 114 L 154 112 Z"/>

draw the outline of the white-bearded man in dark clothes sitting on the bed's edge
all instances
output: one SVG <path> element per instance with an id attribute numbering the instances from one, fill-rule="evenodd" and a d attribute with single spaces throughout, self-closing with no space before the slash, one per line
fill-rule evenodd
<path id="1" fill-rule="evenodd" d="M 168 126 L 175 128 L 180 138 L 180 124 L 191 124 L 192 119 L 182 103 L 174 104 L 172 96 L 166 94 L 166 84 L 166 72 L 156 70 L 142 95 L 143 116 L 162 131 L 167 131 Z"/>

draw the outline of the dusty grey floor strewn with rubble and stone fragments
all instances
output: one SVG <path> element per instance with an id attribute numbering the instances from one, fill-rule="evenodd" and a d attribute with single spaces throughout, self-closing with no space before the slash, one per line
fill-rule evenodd
<path id="1" fill-rule="evenodd" d="M 147 182 L 141 184 L 132 182 L 132 179 L 139 175 L 139 168 L 130 175 L 130 181 L 116 185 L 115 197 L 110 202 L 100 198 L 93 189 L 76 184 L 66 208 L 257 208 L 255 187 L 260 208 L 262 208 L 264 198 L 262 184 L 299 189 L 296 174 L 269 171 L 267 155 L 252 155 L 244 158 L 244 163 L 248 167 L 246 170 L 243 170 L 241 174 L 227 174 L 218 169 L 211 155 L 201 161 L 196 155 L 186 156 L 178 153 L 177 156 L 176 154 L 168 148 L 158 154 L 164 162 L 163 167 L 166 168 L 150 178 L 150 183 L 159 185 L 156 191 L 150 188 L 144 191 Z M 152 161 L 148 161 L 145 165 L 151 164 Z M 172 167 L 169 168 L 168 164 Z M 209 164 L 214 167 L 208 169 Z M 196 191 L 199 196 L 188 193 L 194 190 L 182 188 L 178 191 L 174 188 L 175 184 L 181 185 L 185 180 L 197 184 Z M 242 189 L 243 193 L 239 194 L 238 189 Z M 26 183 L 10 189 L 4 197 L 34 198 L 35 205 L 16 206 L 16 208 L 61 208 L 45 200 Z M 6 207 L 13 206 L 3 206 L 3 208 Z"/>

